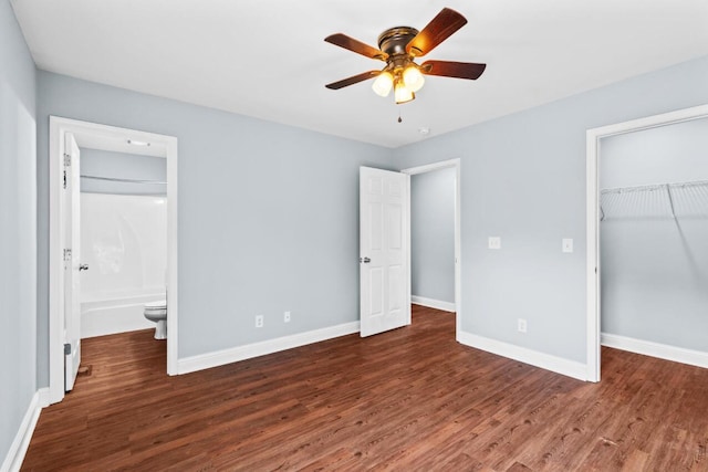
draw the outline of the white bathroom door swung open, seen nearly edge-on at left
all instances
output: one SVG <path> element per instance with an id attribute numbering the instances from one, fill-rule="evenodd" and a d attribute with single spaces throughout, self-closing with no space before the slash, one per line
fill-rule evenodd
<path id="1" fill-rule="evenodd" d="M 74 387 L 81 364 L 81 195 L 76 139 L 64 135 L 64 389 Z"/>

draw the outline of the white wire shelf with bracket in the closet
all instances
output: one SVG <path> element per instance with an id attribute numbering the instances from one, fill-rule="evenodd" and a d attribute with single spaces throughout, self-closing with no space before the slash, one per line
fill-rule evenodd
<path id="1" fill-rule="evenodd" d="M 708 180 L 600 191 L 600 220 L 708 218 Z"/>

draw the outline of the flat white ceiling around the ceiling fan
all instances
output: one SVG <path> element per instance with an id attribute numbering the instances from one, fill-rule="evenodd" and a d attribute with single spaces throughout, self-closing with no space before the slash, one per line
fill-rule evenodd
<path id="1" fill-rule="evenodd" d="M 706 0 L 11 2 L 40 69 L 387 147 L 708 54 Z M 429 76 L 398 106 L 324 87 L 383 67 L 325 36 L 377 46 L 444 7 L 469 22 L 424 59 L 487 63 L 478 81 Z"/>

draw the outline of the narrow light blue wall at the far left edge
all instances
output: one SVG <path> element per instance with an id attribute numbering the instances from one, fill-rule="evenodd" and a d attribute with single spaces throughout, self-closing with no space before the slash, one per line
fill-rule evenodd
<path id="1" fill-rule="evenodd" d="M 0 1 L 0 463 L 37 390 L 35 69 Z"/>

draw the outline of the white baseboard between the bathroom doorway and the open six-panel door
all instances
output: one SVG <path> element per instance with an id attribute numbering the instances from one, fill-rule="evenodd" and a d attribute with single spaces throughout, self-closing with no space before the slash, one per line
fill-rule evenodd
<path id="1" fill-rule="evenodd" d="M 262 340 L 260 343 L 247 344 L 246 346 L 232 347 L 214 353 L 200 354 L 198 356 L 186 357 L 177 360 L 177 373 L 189 374 L 197 370 L 209 369 L 225 364 L 237 363 L 252 357 L 264 356 L 280 350 L 292 349 L 308 344 L 320 343 L 348 334 L 358 333 L 358 322 L 345 323 L 322 329 L 314 329 L 306 333 L 293 334 L 275 339 Z"/>

